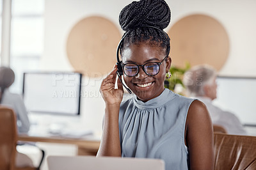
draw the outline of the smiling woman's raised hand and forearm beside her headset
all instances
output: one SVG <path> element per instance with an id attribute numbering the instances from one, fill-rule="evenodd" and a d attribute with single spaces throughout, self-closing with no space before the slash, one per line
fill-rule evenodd
<path id="1" fill-rule="evenodd" d="M 118 116 L 120 103 L 124 95 L 122 83 L 118 79 L 115 89 L 117 67 L 103 79 L 100 93 L 106 103 L 100 148 L 97 156 L 121 157 L 121 146 L 119 138 Z"/>

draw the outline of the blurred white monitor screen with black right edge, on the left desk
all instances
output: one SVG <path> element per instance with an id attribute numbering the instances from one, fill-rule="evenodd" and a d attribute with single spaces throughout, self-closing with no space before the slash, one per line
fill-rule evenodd
<path id="1" fill-rule="evenodd" d="M 81 73 L 27 72 L 23 98 L 29 112 L 80 114 Z"/>

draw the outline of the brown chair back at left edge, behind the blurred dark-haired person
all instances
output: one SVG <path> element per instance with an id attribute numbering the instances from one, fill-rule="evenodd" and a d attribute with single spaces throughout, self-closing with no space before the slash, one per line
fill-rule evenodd
<path id="1" fill-rule="evenodd" d="M 16 116 L 12 109 L 0 105 L 0 169 L 12 170 L 17 142 Z"/>

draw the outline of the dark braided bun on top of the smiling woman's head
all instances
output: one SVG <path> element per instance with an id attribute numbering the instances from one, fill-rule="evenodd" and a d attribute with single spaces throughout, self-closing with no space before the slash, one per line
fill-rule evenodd
<path id="1" fill-rule="evenodd" d="M 123 8 L 119 24 L 124 31 L 141 26 L 155 26 L 164 29 L 171 19 L 171 12 L 164 0 L 133 1 Z"/>

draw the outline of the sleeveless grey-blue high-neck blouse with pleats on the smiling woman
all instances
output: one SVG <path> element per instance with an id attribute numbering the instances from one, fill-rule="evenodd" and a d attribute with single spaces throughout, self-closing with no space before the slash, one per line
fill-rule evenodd
<path id="1" fill-rule="evenodd" d="M 136 97 L 120 105 L 122 157 L 161 158 L 165 169 L 189 169 L 184 130 L 192 98 L 164 89 L 159 97 L 142 102 Z"/>

